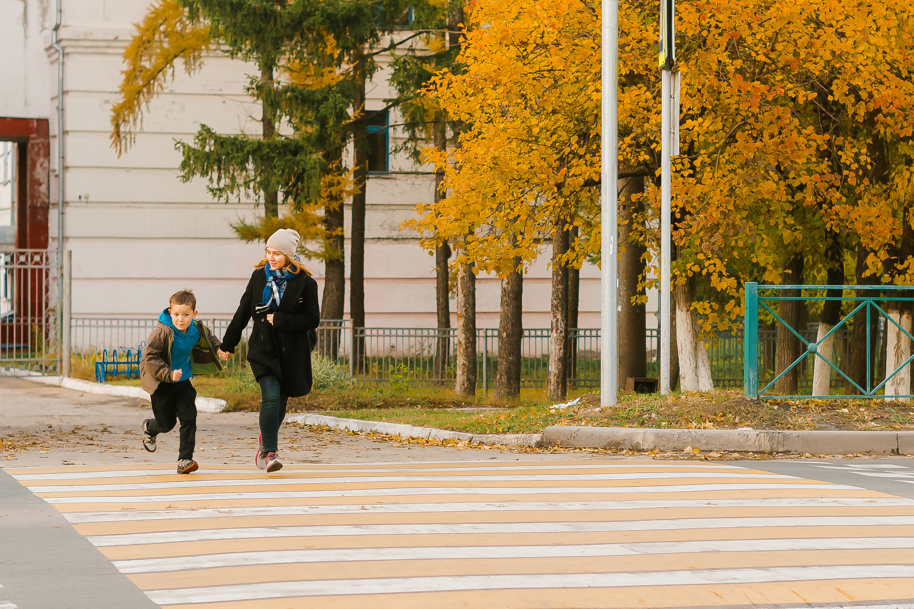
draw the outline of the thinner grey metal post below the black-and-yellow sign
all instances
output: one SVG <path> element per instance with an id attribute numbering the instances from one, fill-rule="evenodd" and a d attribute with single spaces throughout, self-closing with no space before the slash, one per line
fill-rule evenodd
<path id="1" fill-rule="evenodd" d="M 670 394 L 670 330 L 673 319 L 670 310 L 670 127 L 673 107 L 671 80 L 670 70 L 664 69 L 661 88 L 663 121 L 660 136 L 660 393 L 664 395 Z"/>

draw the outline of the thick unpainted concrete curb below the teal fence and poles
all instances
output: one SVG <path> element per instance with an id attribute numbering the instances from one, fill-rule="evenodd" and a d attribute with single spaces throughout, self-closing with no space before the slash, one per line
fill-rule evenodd
<path id="1" fill-rule="evenodd" d="M 754 429 L 635 429 L 631 427 L 549 426 L 543 446 L 615 448 L 637 451 L 726 450 L 813 455 L 911 455 L 914 432 L 761 431 Z"/>

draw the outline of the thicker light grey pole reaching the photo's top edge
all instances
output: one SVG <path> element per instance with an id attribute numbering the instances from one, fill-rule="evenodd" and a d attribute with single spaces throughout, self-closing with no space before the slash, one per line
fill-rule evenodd
<path id="1" fill-rule="evenodd" d="M 616 272 L 619 236 L 619 2 L 602 0 L 602 100 L 600 100 L 600 405 L 617 399 L 616 318 L 619 279 Z"/>

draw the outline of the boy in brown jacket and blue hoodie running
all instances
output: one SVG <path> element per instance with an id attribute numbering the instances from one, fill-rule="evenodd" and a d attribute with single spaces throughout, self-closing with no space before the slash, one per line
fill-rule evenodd
<path id="1" fill-rule="evenodd" d="M 197 390 L 190 379 L 222 370 L 216 357 L 221 344 L 209 329 L 195 320 L 197 297 L 182 289 L 168 299 L 168 309 L 146 339 L 140 361 L 143 390 L 152 396 L 153 416 L 143 420 L 143 447 L 155 452 L 155 436 L 165 434 L 181 421 L 177 473 L 197 471 Z"/>

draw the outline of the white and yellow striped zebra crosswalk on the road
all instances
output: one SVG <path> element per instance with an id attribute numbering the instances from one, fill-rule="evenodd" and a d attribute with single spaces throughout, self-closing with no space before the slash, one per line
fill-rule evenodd
<path id="1" fill-rule="evenodd" d="M 914 500 L 746 467 L 6 471 L 169 609 L 914 608 Z"/>

